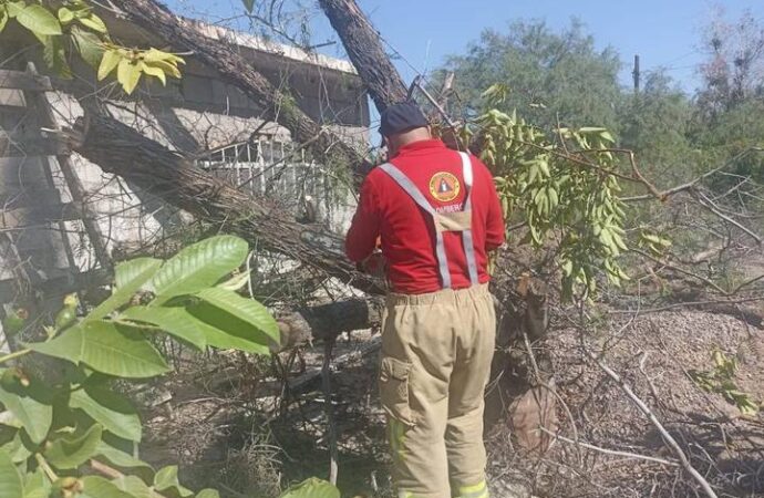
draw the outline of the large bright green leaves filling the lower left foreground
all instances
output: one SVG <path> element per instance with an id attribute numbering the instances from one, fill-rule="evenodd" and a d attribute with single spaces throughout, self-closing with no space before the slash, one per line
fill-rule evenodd
<path id="1" fill-rule="evenodd" d="M 171 370 L 152 344 L 162 334 L 199 350 L 225 344 L 267 353 L 278 341 L 276 321 L 261 304 L 225 288 L 247 255 L 241 239 L 218 236 L 167 261 L 121 263 L 112 295 L 93 312 L 78 319 L 76 300 L 68 297 L 45 341 L 0 357 L 0 495 L 217 497 L 213 489 L 195 495 L 185 488 L 175 466 L 155 473 L 124 452 L 141 442 L 141 421 L 130 400 L 111 386 L 116 378 L 151 378 Z M 215 312 L 199 311 L 200 303 Z M 21 361 L 32 354 L 59 362 L 53 370 L 65 375 L 39 378 Z"/>

